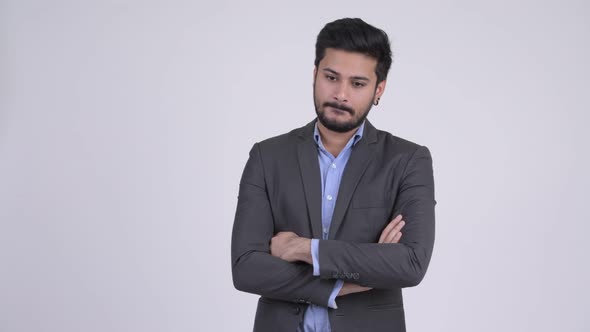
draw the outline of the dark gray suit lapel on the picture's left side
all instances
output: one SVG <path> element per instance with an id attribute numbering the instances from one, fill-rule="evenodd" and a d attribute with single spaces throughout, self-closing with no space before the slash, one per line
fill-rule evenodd
<path id="1" fill-rule="evenodd" d="M 313 141 L 315 120 L 302 128 L 301 140 L 297 146 L 299 169 L 303 181 L 303 190 L 307 202 L 307 213 L 311 221 L 314 239 L 322 238 L 322 184 L 318 150 Z"/>

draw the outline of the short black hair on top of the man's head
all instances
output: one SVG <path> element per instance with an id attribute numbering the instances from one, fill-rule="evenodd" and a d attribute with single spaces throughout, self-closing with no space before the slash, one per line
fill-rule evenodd
<path id="1" fill-rule="evenodd" d="M 315 44 L 315 66 L 326 55 L 326 48 L 366 54 L 377 60 L 377 83 L 387 78 L 391 67 L 391 47 L 385 31 L 360 18 L 342 18 L 330 22 L 318 34 Z"/>

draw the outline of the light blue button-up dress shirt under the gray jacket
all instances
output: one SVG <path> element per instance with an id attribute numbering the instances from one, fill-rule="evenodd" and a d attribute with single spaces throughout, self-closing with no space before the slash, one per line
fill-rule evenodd
<path id="1" fill-rule="evenodd" d="M 336 206 L 336 198 L 338 197 L 338 189 L 340 188 L 340 180 L 344 173 L 344 168 L 350 154 L 352 147 L 363 137 L 365 123 L 361 124 L 357 132 L 350 138 L 344 149 L 340 151 L 337 157 L 334 157 L 328 150 L 324 148 L 320 133 L 318 131 L 317 123 L 314 128 L 313 136 L 318 146 L 318 160 L 320 163 L 320 173 L 322 179 L 322 239 L 327 240 L 330 231 L 330 224 L 332 223 L 332 215 L 334 214 L 334 207 Z M 311 240 L 311 257 L 313 260 L 313 275 L 320 275 L 319 264 L 319 239 Z M 336 296 L 342 289 L 344 281 L 339 279 L 330 294 L 330 299 L 327 303 L 328 307 L 337 309 Z M 305 311 L 303 321 L 297 329 L 299 332 L 330 332 L 330 320 L 328 319 L 328 309 L 323 306 L 310 304 Z"/>

